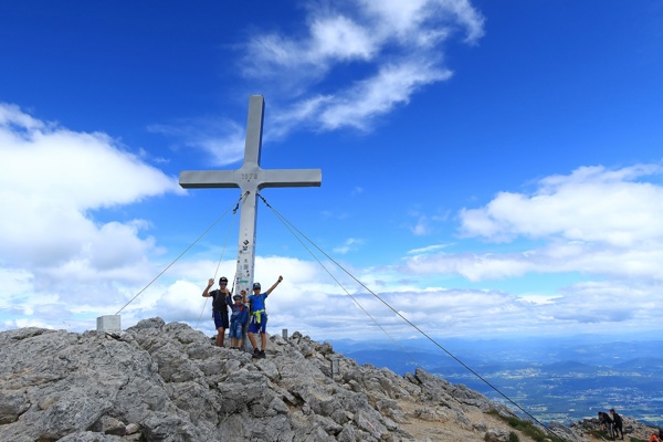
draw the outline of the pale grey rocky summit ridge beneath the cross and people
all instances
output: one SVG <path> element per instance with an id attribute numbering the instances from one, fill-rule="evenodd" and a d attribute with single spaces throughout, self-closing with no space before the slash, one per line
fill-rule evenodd
<path id="1" fill-rule="evenodd" d="M 424 370 L 359 366 L 299 333 L 269 340 L 252 359 L 160 318 L 119 335 L 2 332 L 0 441 L 533 440 L 505 406 Z"/>

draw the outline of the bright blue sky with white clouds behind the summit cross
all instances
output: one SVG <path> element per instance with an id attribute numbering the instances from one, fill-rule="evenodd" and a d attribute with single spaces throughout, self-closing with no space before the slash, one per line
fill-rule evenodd
<path id="1" fill-rule="evenodd" d="M 232 215 L 140 291 L 234 206 L 178 176 L 240 167 L 259 94 L 262 167 L 323 171 L 263 197 L 430 335 L 660 336 L 661 1 L 0 8 L 2 329 L 93 329 L 140 293 L 123 326 L 211 334 Z M 272 332 L 378 336 L 348 291 L 413 336 L 265 206 L 256 254 Z"/>

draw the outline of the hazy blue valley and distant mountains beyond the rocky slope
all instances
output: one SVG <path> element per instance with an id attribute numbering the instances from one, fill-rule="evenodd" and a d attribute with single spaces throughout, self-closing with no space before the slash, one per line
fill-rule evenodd
<path id="1" fill-rule="evenodd" d="M 506 396 L 543 422 L 568 424 L 614 408 L 648 424 L 663 425 L 663 354 L 659 350 L 663 340 L 450 339 L 444 350 L 423 339 L 399 341 L 402 350 L 391 341 L 332 344 L 359 364 L 399 375 L 419 366 L 509 404 Z"/>

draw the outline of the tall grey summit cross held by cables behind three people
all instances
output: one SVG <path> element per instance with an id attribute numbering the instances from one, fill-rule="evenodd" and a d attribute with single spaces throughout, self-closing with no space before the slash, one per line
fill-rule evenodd
<path id="1" fill-rule="evenodd" d="M 320 169 L 272 169 L 260 167 L 262 125 L 265 102 L 262 95 L 249 97 L 249 122 L 244 144 L 244 164 L 236 170 L 183 170 L 180 186 L 183 188 L 231 188 L 242 190 L 240 211 L 240 241 L 235 292 L 253 293 L 253 267 L 255 265 L 255 219 L 257 191 L 265 187 L 319 187 Z"/>

